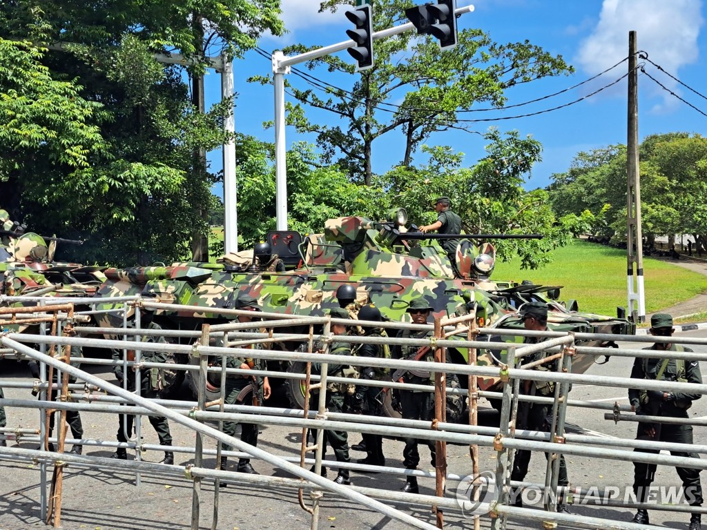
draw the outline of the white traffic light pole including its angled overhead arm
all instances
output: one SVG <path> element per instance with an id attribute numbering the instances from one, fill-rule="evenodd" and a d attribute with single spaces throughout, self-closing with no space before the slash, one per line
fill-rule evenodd
<path id="1" fill-rule="evenodd" d="M 474 6 L 464 6 L 455 10 L 455 16 L 474 11 Z M 406 31 L 415 30 L 413 23 L 387 28 L 373 33 L 373 40 L 385 39 L 399 35 Z M 272 54 L 272 72 L 274 74 L 275 88 L 275 186 L 276 186 L 276 229 L 287 230 L 287 150 L 285 141 L 285 75 L 290 73 L 291 66 L 313 59 L 319 59 L 327 55 L 341 52 L 344 49 L 356 47 L 358 44 L 353 40 L 346 40 L 335 45 L 323 48 L 312 49 L 292 57 L 286 57 L 281 51 Z"/>

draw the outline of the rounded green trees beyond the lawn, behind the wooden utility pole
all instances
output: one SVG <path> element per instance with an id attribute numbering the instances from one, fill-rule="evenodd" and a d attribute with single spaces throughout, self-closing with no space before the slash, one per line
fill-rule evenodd
<path id="1" fill-rule="evenodd" d="M 648 136 L 640 146 L 643 235 L 707 235 L 707 139 L 699 134 Z M 568 172 L 549 187 L 559 215 L 588 210 L 590 232 L 614 240 L 626 237 L 626 147 L 578 153 Z"/>

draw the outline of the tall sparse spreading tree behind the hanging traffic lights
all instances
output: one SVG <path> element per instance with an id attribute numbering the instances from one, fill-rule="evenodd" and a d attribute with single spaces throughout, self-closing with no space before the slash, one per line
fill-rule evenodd
<path id="1" fill-rule="evenodd" d="M 321 11 L 337 11 L 351 1 L 327 0 Z M 373 2 L 374 30 L 388 28 L 403 16 L 411 0 Z M 286 53 L 305 52 L 293 46 Z M 327 56 L 308 66 L 354 73 L 348 61 Z M 373 182 L 373 142 L 399 131 L 404 136 L 403 167 L 410 167 L 416 150 L 434 133 L 449 129 L 472 131 L 458 121 L 459 112 L 484 103 L 503 107 L 505 91 L 545 76 L 571 73 L 561 56 L 553 56 L 530 42 L 499 45 L 481 30 L 463 30 L 459 45 L 440 51 L 429 37 L 404 33 L 375 42 L 375 66 L 363 71 L 350 91 L 328 88 L 324 96 L 314 89 L 292 88 L 300 104 L 332 112 L 342 125 L 310 122 L 299 107 L 290 106 L 288 119 L 300 132 L 317 134 L 325 163 L 335 161 L 354 182 Z M 259 81 L 265 81 L 258 78 Z M 402 101 L 392 105 L 392 101 Z"/>

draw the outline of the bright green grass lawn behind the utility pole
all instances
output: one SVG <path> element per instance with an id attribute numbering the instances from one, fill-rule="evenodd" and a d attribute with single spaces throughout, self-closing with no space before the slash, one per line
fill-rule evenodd
<path id="1" fill-rule="evenodd" d="M 556 249 L 554 261 L 539 271 L 520 270 L 520 259 L 496 263 L 496 280 L 532 280 L 542 285 L 563 285 L 561 300 L 575 299 L 580 311 L 616 314 L 627 305 L 626 251 L 574 240 Z M 664 310 L 707 290 L 707 276 L 667 261 L 643 258 L 645 312 Z"/>

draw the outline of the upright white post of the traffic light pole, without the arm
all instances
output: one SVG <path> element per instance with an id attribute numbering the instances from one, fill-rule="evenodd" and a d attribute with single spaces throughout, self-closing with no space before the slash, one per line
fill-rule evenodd
<path id="1" fill-rule="evenodd" d="M 289 66 L 277 65 L 284 54 L 272 54 L 275 86 L 275 205 L 276 229 L 287 230 L 287 146 L 285 142 L 285 74 Z M 277 65 L 277 66 L 276 66 Z"/>

